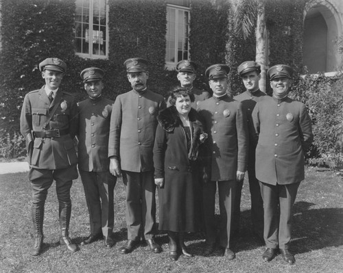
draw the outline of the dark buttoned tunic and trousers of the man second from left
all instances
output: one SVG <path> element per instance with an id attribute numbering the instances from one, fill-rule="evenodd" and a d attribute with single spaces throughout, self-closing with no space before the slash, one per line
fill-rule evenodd
<path id="1" fill-rule="evenodd" d="M 89 213 L 91 235 L 110 237 L 114 225 L 113 192 L 117 181 L 109 172 L 108 136 L 114 101 L 99 96 L 78 103 L 78 154 Z"/>

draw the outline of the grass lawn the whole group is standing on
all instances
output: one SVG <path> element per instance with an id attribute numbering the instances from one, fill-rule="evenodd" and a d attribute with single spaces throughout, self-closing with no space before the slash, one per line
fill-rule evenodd
<path id="1" fill-rule="evenodd" d="M 80 179 L 71 189 L 71 238 L 80 244 L 89 233 L 88 211 Z M 296 264 L 287 265 L 276 257 L 270 263 L 262 260 L 263 244 L 250 232 L 250 194 L 247 181 L 242 192 L 241 235 L 235 238 L 236 259 L 228 261 L 216 250 L 212 257 L 202 256 L 204 239 L 189 235 L 187 245 L 196 256 L 167 257 L 167 236 L 156 241 L 163 246 L 161 254 L 151 253 L 143 244 L 129 255 L 119 247 L 126 241 L 125 189 L 121 181 L 115 187 L 115 241 L 106 249 L 102 241 L 70 253 L 60 246 L 58 201 L 55 184 L 45 203 L 44 246 L 38 257 L 29 254 L 32 247 L 30 218 L 31 189 L 26 173 L 0 175 L 0 272 L 343 272 L 343 181 L 334 172 L 306 170 L 294 205 L 292 251 Z"/>

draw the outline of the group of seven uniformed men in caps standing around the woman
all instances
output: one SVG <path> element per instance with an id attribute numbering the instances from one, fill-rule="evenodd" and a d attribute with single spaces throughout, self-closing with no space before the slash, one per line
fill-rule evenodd
<path id="1" fill-rule="evenodd" d="M 102 96 L 104 71 L 86 68 L 80 73 L 88 99 L 77 103 L 60 89 L 67 65 L 47 58 L 39 64 L 45 85 L 29 92 L 21 112 L 21 133 L 27 140 L 28 178 L 32 185 L 32 255 L 43 250 L 43 218 L 47 191 L 56 181 L 59 203 L 60 244 L 78 250 L 69 237 L 70 189 L 78 170 L 84 186 L 90 220 L 86 245 L 104 237 L 113 240 L 113 192 L 117 177 L 126 186 L 128 240 L 119 252 L 128 254 L 141 239 L 154 253 L 162 251 L 155 240 L 156 185 L 152 148 L 156 117 L 169 106 L 160 94 L 147 89 L 148 63 L 130 58 L 124 63 L 130 92 L 115 102 Z M 293 264 L 289 251 L 292 205 L 304 179 L 304 153 L 311 144 L 311 120 L 305 105 L 290 99 L 291 67 L 279 64 L 268 70 L 272 96 L 259 90 L 260 66 L 243 62 L 238 67 L 246 91 L 232 98 L 228 90 L 230 67 L 214 64 L 206 69 L 213 96 L 193 87 L 196 64 L 178 62 L 178 81 L 195 96 L 193 107 L 204 120 L 209 139 L 200 157 L 206 170 L 199 185 L 202 193 L 202 222 L 206 237 L 204 255 L 218 243 L 224 256 L 234 259 L 230 239 L 239 232 L 241 190 L 248 170 L 252 231 L 263 238 L 265 261 L 279 252 Z M 78 140 L 78 156 L 73 138 Z M 77 170 L 78 164 L 78 170 Z M 220 206 L 219 236 L 215 222 L 215 192 Z"/>

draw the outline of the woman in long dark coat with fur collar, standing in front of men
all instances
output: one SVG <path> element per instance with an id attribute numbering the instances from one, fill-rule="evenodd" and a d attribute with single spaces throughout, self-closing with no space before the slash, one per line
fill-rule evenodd
<path id="1" fill-rule="evenodd" d="M 178 250 L 187 251 L 184 234 L 196 232 L 200 224 L 197 204 L 198 148 L 206 140 L 194 100 L 186 88 L 171 92 L 171 106 L 158 115 L 154 144 L 154 177 L 158 185 L 159 226 L 169 236 L 169 257 L 176 260 Z"/>

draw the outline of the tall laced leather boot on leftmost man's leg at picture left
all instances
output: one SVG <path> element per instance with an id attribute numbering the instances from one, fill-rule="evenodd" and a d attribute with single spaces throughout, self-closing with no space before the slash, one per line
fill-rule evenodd
<path id="1" fill-rule="evenodd" d="M 39 205 L 32 204 L 31 216 L 34 224 L 34 246 L 32 247 L 31 254 L 38 256 L 43 246 L 44 203 Z"/>

